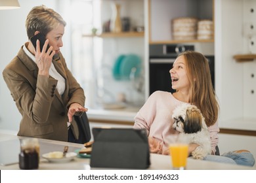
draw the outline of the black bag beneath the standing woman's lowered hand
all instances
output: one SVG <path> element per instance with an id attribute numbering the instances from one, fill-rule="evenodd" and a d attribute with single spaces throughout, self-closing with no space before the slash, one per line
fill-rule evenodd
<path id="1" fill-rule="evenodd" d="M 89 142 L 91 140 L 91 129 L 86 112 L 79 116 L 74 116 L 74 120 L 79 130 L 79 137 L 75 143 L 84 144 Z"/>

